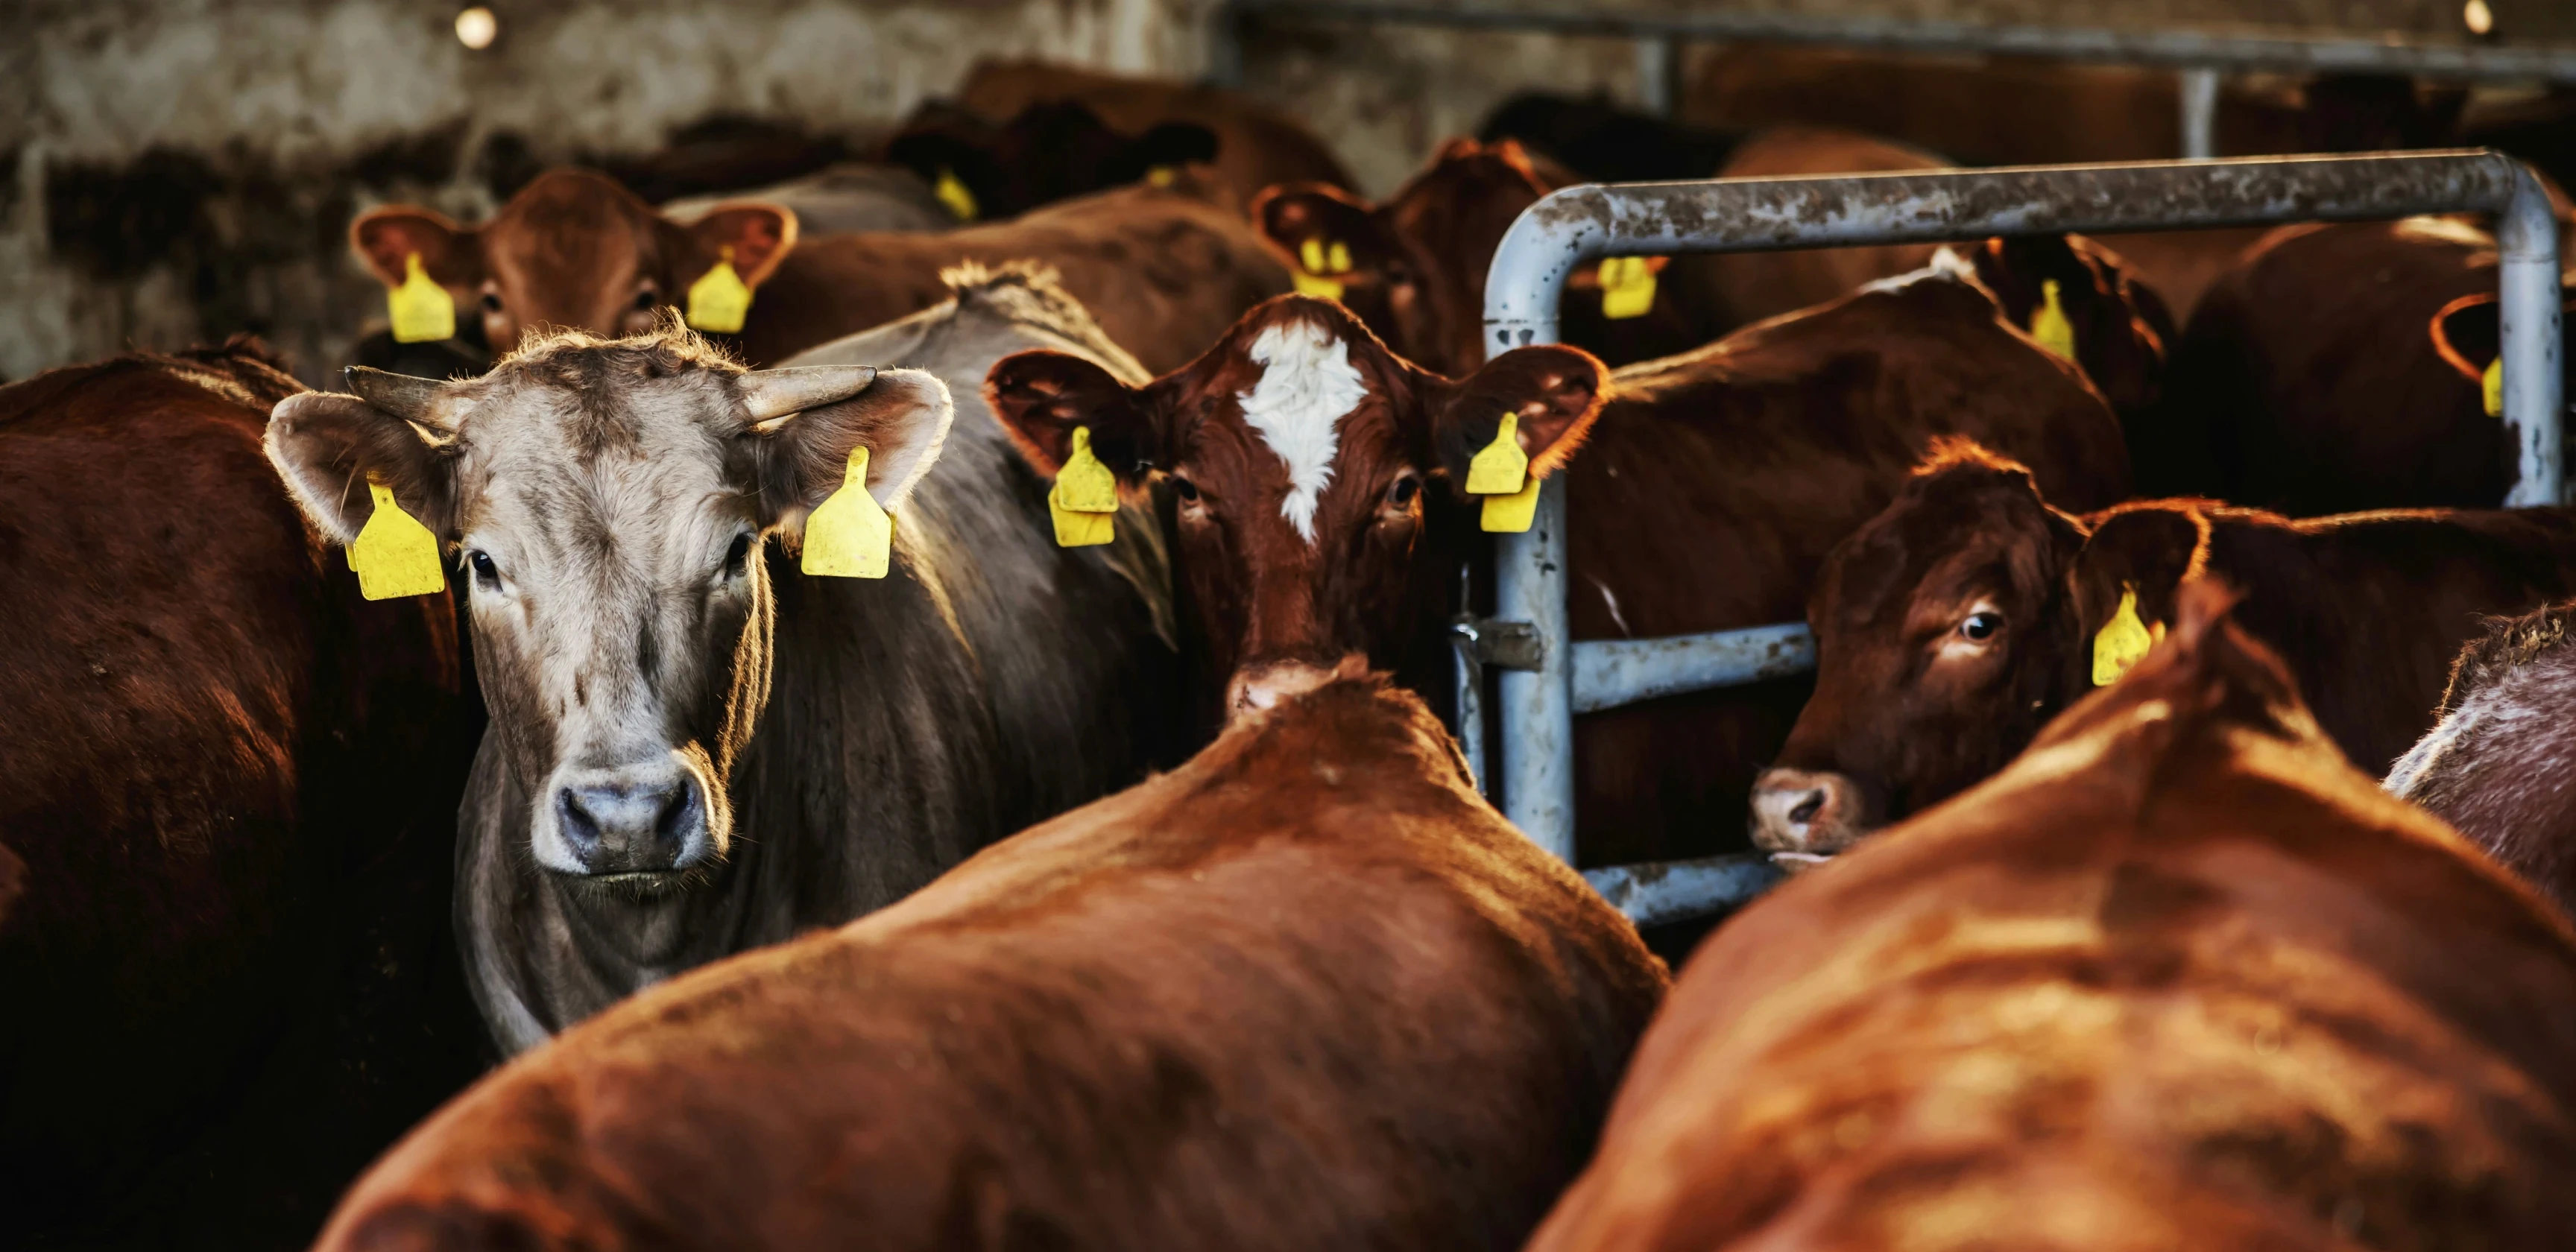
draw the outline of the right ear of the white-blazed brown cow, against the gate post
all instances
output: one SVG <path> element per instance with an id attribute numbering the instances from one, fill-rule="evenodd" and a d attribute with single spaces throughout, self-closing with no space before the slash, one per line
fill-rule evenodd
<path id="1" fill-rule="evenodd" d="M 1466 489 L 1468 461 L 1494 443 L 1504 412 L 1520 415 L 1515 435 L 1530 456 L 1530 474 L 1553 474 L 1600 420 L 1607 379 L 1610 371 L 1592 353 L 1548 343 L 1512 348 L 1476 374 L 1435 389 L 1432 453 L 1450 487 Z"/>

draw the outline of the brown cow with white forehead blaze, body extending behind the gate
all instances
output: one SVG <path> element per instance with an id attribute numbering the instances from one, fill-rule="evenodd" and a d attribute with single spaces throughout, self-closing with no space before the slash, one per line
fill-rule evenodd
<path id="1" fill-rule="evenodd" d="M 1203 690 L 1226 708 L 1345 652 L 1450 693 L 1448 618 L 1481 551 L 1463 477 L 1504 412 L 1530 471 L 1566 479 L 1574 639 L 1795 618 L 1826 549 L 1935 435 L 2009 443 L 2094 507 L 2128 495 L 2099 392 L 1947 270 L 1618 374 L 1546 345 L 1450 381 L 1342 304 L 1285 296 L 1151 386 L 1030 353 L 994 366 L 987 394 L 1043 471 L 1084 425 L 1126 484 L 1180 495 L 1177 595 L 1239 670 L 1231 696 Z M 1783 680 L 1579 719 L 1582 863 L 1723 850 L 1801 698 Z"/>

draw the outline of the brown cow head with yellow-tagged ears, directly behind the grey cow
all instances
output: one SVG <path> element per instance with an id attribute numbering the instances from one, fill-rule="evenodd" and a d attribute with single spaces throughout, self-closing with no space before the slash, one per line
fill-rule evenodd
<path id="1" fill-rule="evenodd" d="M 546 170 L 482 227 L 389 204 L 361 214 L 348 240 L 386 286 L 417 252 L 459 317 L 482 317 L 484 343 L 505 353 L 538 327 L 647 332 L 719 260 L 760 286 L 796 245 L 796 214 L 744 201 L 680 224 L 605 175 Z"/>

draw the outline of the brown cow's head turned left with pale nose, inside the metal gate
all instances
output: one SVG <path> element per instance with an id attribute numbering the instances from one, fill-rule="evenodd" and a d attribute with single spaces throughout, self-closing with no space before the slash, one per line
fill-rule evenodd
<path id="1" fill-rule="evenodd" d="M 1754 781 L 1754 845 L 1793 866 L 1834 855 L 2012 760 L 2084 690 L 2063 580 L 2081 544 L 2027 469 L 1935 446 L 1824 559 L 1816 696 Z"/>

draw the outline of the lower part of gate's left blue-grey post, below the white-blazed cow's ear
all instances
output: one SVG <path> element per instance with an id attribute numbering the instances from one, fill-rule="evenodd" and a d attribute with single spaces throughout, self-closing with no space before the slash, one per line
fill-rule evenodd
<path id="1" fill-rule="evenodd" d="M 1551 319 L 1553 322 L 1553 319 Z M 1556 343 L 1553 325 L 1546 343 Z M 1566 631 L 1566 482 L 1538 489 L 1528 533 L 1494 546 L 1494 616 L 1543 639 L 1538 670 L 1504 670 L 1502 817 L 1574 863 L 1574 644 Z"/>

